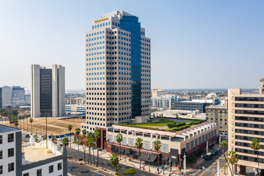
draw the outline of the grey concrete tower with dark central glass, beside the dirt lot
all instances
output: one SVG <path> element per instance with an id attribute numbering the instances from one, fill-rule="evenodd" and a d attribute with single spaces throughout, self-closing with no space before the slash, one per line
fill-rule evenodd
<path id="1" fill-rule="evenodd" d="M 65 67 L 31 65 L 31 117 L 65 114 Z"/>

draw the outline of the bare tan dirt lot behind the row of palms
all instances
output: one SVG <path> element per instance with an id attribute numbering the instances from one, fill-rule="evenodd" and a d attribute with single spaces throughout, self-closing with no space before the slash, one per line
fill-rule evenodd
<path id="1" fill-rule="evenodd" d="M 52 130 L 53 134 L 56 133 L 56 135 L 59 135 L 59 133 L 65 134 L 66 132 L 64 130 L 66 130 L 67 133 L 70 133 L 70 131 L 68 131 L 67 126 L 71 124 L 72 125 L 71 132 L 73 133 L 75 128 L 77 127 L 81 128 L 81 123 L 85 121 L 86 121 L 85 119 L 58 120 L 57 118 L 48 118 L 47 120 L 48 132 L 49 134 L 51 134 L 51 130 Z M 25 123 L 25 131 L 27 131 L 27 120 L 26 119 L 24 119 L 24 123 Z M 28 118 L 28 125 L 29 125 L 28 130 L 30 130 L 31 132 L 31 124 L 29 122 L 29 118 Z M 35 128 L 36 128 L 36 133 L 38 134 L 39 132 L 41 133 L 41 127 L 42 127 L 42 132 L 44 133 L 44 130 L 46 129 L 46 118 L 33 118 L 33 122 L 32 122 L 33 133 L 35 133 Z M 19 122 L 18 128 L 20 128 L 20 122 Z M 22 119 L 21 119 L 21 129 L 24 130 Z"/>

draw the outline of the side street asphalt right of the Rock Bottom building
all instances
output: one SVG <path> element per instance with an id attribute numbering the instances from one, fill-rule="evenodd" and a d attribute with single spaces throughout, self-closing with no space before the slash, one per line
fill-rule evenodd
<path id="1" fill-rule="evenodd" d="M 195 169 L 193 169 L 191 172 L 189 172 L 187 175 L 190 176 L 212 176 L 213 172 L 207 172 L 206 170 L 209 169 L 210 171 L 213 171 L 213 165 L 215 166 L 214 174 L 217 172 L 217 161 L 219 160 L 220 169 L 221 167 L 226 163 L 225 157 L 223 155 L 223 149 L 221 148 L 220 151 L 218 151 L 218 154 L 213 156 L 213 158 L 209 161 L 205 160 L 202 164 L 198 165 Z M 225 154 L 227 155 L 228 147 L 225 147 Z M 199 166 L 204 166 L 207 169 L 200 170 Z"/>

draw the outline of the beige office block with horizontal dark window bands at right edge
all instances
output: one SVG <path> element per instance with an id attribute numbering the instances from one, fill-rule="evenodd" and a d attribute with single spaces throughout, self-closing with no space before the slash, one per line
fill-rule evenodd
<path id="1" fill-rule="evenodd" d="M 263 135 L 264 94 L 228 89 L 228 151 L 236 151 L 239 157 L 234 173 L 239 171 L 239 174 L 246 175 L 246 167 L 258 170 L 257 152 L 250 148 L 253 138 L 260 140 L 258 157 L 260 168 L 264 168 Z"/>

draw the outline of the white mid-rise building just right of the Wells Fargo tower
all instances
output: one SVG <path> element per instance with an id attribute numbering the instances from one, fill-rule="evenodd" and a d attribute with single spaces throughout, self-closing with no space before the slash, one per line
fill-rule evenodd
<path id="1" fill-rule="evenodd" d="M 163 107 L 167 109 L 170 109 L 171 107 L 175 107 L 175 97 L 174 96 L 158 96 L 154 98 L 152 97 L 151 107 Z"/>

